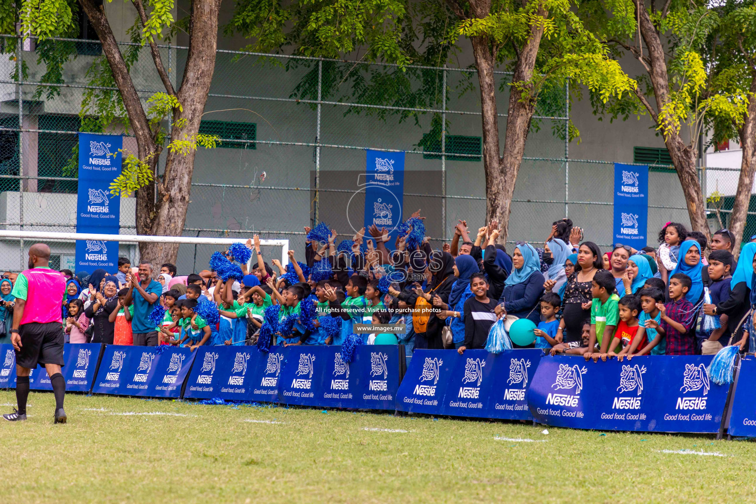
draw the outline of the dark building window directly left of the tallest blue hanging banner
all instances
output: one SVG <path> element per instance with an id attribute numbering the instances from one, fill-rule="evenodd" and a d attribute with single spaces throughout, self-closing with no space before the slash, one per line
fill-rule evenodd
<path id="1" fill-rule="evenodd" d="M 39 147 L 37 148 L 37 190 L 40 193 L 76 193 L 76 180 L 58 181 L 45 177 L 66 177 L 63 168 L 73 156 L 73 147 L 79 145 L 81 120 L 79 116 L 39 116 Z M 72 133 L 45 133 L 44 131 L 72 131 Z"/>

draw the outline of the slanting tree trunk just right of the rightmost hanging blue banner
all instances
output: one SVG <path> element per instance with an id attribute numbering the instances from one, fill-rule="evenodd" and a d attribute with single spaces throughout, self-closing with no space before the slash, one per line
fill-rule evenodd
<path id="1" fill-rule="evenodd" d="M 654 88 L 656 110 L 661 111 L 669 101 L 670 90 L 664 46 L 641 0 L 635 0 L 635 8 L 640 20 L 640 34 L 649 51 L 649 65 L 646 66 L 646 70 Z M 655 119 L 658 122 L 658 116 L 655 116 Z M 693 147 L 696 139 L 691 138 L 689 144 L 686 144 L 677 132 L 671 131 L 665 134 L 665 144 L 677 170 L 677 178 L 680 178 L 680 185 L 683 187 L 690 225 L 693 230 L 704 233 L 711 243 L 711 233 L 706 222 L 706 206 L 696 170 L 696 148 Z"/>

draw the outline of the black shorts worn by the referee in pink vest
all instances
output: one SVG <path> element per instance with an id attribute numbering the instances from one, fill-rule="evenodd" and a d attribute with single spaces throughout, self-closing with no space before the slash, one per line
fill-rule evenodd
<path id="1" fill-rule="evenodd" d="M 21 349 L 16 351 L 18 366 L 29 369 L 37 364 L 58 364 L 63 366 L 63 344 L 66 337 L 60 322 L 30 322 L 19 326 Z"/>

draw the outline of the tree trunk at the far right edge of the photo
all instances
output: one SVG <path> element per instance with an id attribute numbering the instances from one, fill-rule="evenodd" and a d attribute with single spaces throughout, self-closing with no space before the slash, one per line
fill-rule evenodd
<path id="1" fill-rule="evenodd" d="M 740 148 L 742 160 L 740 162 L 740 176 L 738 178 L 738 190 L 735 193 L 733 213 L 730 214 L 728 227 L 735 235 L 735 249 L 733 254 L 736 258 L 740 253 L 740 243 L 745 231 L 745 221 L 748 219 L 748 206 L 751 204 L 751 187 L 754 184 L 754 172 L 756 172 L 756 71 L 751 71 L 751 96 L 748 98 L 748 112 L 745 122 L 738 130 L 740 135 Z"/>

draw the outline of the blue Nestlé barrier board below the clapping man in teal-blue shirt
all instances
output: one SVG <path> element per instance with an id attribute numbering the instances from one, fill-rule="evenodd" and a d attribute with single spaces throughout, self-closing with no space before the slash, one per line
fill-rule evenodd
<path id="1" fill-rule="evenodd" d="M 184 347 L 107 345 L 102 355 L 95 394 L 180 397 L 196 352 Z"/>

